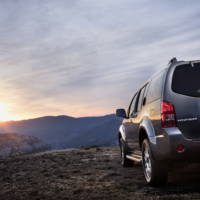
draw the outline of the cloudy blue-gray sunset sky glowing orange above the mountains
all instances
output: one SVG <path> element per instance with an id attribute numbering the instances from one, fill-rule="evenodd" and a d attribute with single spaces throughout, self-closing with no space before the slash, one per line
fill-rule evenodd
<path id="1" fill-rule="evenodd" d="M 172 57 L 200 59 L 200 1 L 0 1 L 0 120 L 127 107 Z"/>

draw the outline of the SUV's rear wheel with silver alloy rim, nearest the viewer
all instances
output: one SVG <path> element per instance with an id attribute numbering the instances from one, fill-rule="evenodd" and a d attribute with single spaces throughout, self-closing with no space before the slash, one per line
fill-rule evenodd
<path id="1" fill-rule="evenodd" d="M 142 143 L 142 167 L 149 185 L 158 186 L 167 183 L 167 167 L 154 159 L 147 139 L 144 139 Z"/>

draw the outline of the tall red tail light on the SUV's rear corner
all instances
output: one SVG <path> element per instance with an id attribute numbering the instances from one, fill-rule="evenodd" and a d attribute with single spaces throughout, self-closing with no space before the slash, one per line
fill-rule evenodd
<path id="1" fill-rule="evenodd" d="M 176 127 L 174 105 L 169 102 L 161 103 L 161 123 L 163 128 Z"/>

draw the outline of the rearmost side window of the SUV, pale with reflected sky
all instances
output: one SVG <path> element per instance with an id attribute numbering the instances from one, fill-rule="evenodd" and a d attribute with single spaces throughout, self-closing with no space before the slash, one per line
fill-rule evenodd
<path id="1" fill-rule="evenodd" d="M 161 98 L 162 87 L 163 87 L 164 72 L 153 78 L 149 84 L 147 91 L 146 102 L 150 103 Z"/>

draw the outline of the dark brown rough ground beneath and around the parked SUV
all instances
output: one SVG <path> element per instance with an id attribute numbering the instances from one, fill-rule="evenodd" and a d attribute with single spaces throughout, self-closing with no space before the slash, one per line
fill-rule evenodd
<path id="1" fill-rule="evenodd" d="M 153 188 L 140 165 L 120 166 L 117 147 L 15 156 L 0 160 L 0 200 L 200 199 L 199 169 L 170 172 L 168 185 Z"/>

